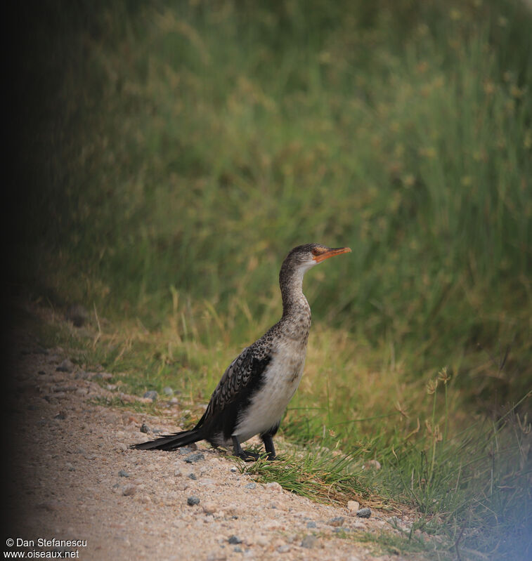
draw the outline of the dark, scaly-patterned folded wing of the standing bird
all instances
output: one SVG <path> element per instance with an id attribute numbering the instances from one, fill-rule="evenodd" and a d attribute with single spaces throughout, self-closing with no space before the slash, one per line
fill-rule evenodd
<path id="1" fill-rule="evenodd" d="M 249 389 L 250 382 L 256 380 L 270 362 L 271 356 L 268 351 L 268 348 L 257 348 L 256 345 L 242 350 L 223 373 L 197 426 L 209 421 L 242 397 L 242 392 Z"/>

